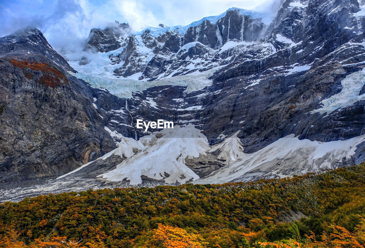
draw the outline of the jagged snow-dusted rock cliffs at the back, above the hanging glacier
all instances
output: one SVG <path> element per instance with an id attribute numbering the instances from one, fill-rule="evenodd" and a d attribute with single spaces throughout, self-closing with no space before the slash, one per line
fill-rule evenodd
<path id="1" fill-rule="evenodd" d="M 117 65 L 115 76 L 139 73 L 139 79 L 154 80 L 227 64 L 225 60 L 231 60 L 231 56 L 218 53 L 227 41 L 257 41 L 265 28 L 260 18 L 232 8 L 216 22 L 205 19 L 188 27 L 185 33 L 175 29 L 157 36 L 147 29 L 135 35 L 128 33 L 128 24 L 116 22 L 112 28 L 92 29 L 87 48 L 98 52 L 113 50 L 109 59 Z"/>

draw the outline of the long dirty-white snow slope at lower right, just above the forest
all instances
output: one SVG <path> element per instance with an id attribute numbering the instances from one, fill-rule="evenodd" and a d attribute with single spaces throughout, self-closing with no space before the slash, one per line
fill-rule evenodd
<path id="1" fill-rule="evenodd" d="M 355 154 L 365 135 L 348 140 L 318 142 L 299 140 L 293 134 L 251 154 L 244 154 L 228 166 L 194 183 L 227 183 L 250 181 L 255 178 L 282 178 L 293 175 L 334 169 L 334 164 L 345 162 Z"/>

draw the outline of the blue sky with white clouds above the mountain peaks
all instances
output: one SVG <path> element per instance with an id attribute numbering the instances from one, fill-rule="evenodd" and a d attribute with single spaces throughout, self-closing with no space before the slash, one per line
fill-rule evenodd
<path id="1" fill-rule="evenodd" d="M 50 44 L 85 40 L 93 27 L 118 20 L 134 30 L 163 23 L 188 25 L 204 16 L 219 15 L 230 7 L 267 7 L 272 0 L 1 0 L 0 37 L 26 26 L 40 29 Z"/>

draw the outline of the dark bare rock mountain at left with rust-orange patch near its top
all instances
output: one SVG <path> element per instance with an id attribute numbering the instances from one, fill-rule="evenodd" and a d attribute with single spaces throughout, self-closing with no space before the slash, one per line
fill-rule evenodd
<path id="1" fill-rule="evenodd" d="M 0 185 L 64 174 L 114 149 L 87 83 L 37 29 L 0 39 Z"/>

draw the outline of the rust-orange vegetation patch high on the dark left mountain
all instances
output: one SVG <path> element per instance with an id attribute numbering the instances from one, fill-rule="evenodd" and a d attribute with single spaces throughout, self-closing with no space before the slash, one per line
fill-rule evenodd
<path id="1" fill-rule="evenodd" d="M 38 63 L 36 61 L 17 61 L 17 60 L 10 60 L 10 62 L 19 68 L 22 68 L 23 70 L 25 68 L 30 68 L 32 71 L 41 71 L 45 75 L 41 76 L 39 78 L 39 83 L 52 87 L 53 89 L 57 88 L 59 84 L 68 83 L 68 79 L 65 77 L 65 75 L 59 71 L 58 69 L 51 67 L 50 65 L 46 63 Z M 26 77 L 28 79 L 31 79 L 34 75 L 26 72 Z M 62 82 L 62 81 L 63 82 Z"/>

